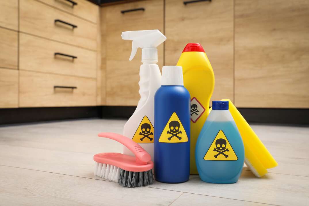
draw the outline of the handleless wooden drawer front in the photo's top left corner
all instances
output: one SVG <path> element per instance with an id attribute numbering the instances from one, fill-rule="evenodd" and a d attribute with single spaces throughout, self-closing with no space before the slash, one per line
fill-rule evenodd
<path id="1" fill-rule="evenodd" d="M 18 0 L 0 1 L 0 26 L 18 30 Z"/>

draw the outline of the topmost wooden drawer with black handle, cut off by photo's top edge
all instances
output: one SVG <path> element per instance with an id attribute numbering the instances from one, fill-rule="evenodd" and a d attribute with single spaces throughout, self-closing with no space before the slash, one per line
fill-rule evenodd
<path id="1" fill-rule="evenodd" d="M 99 6 L 87 1 L 87 0 L 73 0 L 76 4 L 68 0 L 40 0 L 51 6 L 55 6 L 58 9 L 69 12 L 73 15 L 79 16 L 83 19 L 87 19 L 94 23 L 97 22 L 99 15 Z"/>

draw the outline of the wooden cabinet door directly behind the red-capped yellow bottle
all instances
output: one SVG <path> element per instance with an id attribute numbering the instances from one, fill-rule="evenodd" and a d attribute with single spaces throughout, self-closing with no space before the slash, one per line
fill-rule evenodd
<path id="1" fill-rule="evenodd" d="M 233 0 L 165 4 L 165 65 L 176 65 L 187 43 L 200 43 L 214 69 L 211 100 L 233 101 Z"/>

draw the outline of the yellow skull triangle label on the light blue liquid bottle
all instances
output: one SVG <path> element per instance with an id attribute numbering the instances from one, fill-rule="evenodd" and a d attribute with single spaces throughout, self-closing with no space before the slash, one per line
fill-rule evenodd
<path id="1" fill-rule="evenodd" d="M 230 142 L 220 130 L 205 154 L 204 160 L 238 160 Z"/>

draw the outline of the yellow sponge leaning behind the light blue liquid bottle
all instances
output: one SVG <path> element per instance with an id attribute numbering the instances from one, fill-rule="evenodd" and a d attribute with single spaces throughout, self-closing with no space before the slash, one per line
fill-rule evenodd
<path id="1" fill-rule="evenodd" d="M 230 99 L 222 99 L 229 101 L 229 111 L 231 112 L 239 133 L 243 139 L 245 148 L 245 163 L 256 177 L 262 177 L 267 173 L 267 169 L 278 165 L 273 156 L 266 149 L 262 141 L 252 130 L 248 122 L 243 118 Z"/>

